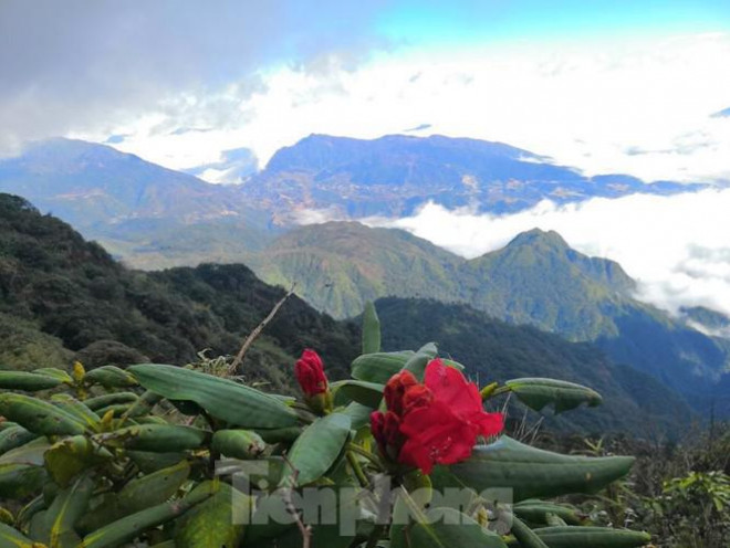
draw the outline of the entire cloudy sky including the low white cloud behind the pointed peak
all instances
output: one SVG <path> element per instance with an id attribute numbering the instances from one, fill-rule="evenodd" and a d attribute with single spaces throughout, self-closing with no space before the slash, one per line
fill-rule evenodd
<path id="1" fill-rule="evenodd" d="M 0 156 L 66 136 L 240 182 L 312 133 L 483 138 L 586 175 L 730 180 L 730 2 L 0 0 Z M 429 205 L 395 224 L 469 256 L 556 228 L 651 302 L 730 313 L 729 197 L 503 218 Z"/>

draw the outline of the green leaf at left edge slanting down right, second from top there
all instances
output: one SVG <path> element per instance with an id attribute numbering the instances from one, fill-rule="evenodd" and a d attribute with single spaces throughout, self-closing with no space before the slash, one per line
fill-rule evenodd
<path id="1" fill-rule="evenodd" d="M 75 417 L 55 405 L 18 393 L 0 394 L 0 415 L 35 434 L 76 435 L 86 430 Z"/>

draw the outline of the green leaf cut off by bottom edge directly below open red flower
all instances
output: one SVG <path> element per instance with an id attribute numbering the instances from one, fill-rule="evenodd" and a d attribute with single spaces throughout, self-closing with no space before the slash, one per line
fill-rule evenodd
<path id="1" fill-rule="evenodd" d="M 452 508 L 434 508 L 424 521 L 394 526 L 390 548 L 505 548 L 501 537 Z"/>

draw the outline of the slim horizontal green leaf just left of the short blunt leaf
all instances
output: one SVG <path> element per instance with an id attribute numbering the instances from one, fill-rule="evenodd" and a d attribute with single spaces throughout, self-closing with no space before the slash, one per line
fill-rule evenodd
<path id="1" fill-rule="evenodd" d="M 210 440 L 210 432 L 175 424 L 135 424 L 106 434 L 96 434 L 94 441 L 112 447 L 170 453 L 200 447 Z"/>

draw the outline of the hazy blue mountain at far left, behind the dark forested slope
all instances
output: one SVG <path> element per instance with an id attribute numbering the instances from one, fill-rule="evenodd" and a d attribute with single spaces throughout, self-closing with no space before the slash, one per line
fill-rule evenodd
<path id="1" fill-rule="evenodd" d="M 148 264 L 150 254 L 157 259 L 159 250 L 170 250 L 174 259 L 159 257 L 168 264 L 198 264 L 200 254 L 216 259 L 200 240 L 248 251 L 269 234 L 269 215 L 249 207 L 236 189 L 81 140 L 35 143 L 23 155 L 0 160 L 0 192 L 22 196 L 140 264 Z M 189 249 L 179 246 L 188 234 Z M 197 262 L 190 259 L 196 255 Z"/>

